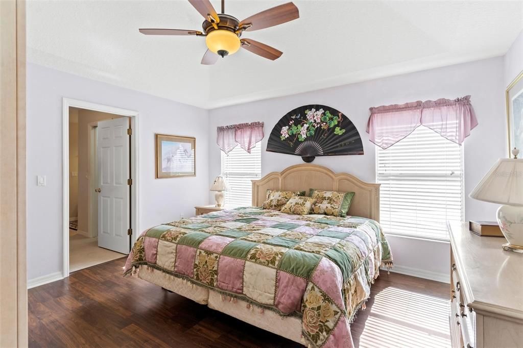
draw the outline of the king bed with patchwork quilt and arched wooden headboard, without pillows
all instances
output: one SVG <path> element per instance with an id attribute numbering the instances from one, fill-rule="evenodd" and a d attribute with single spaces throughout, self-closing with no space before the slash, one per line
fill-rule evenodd
<path id="1" fill-rule="evenodd" d="M 309 347 L 352 347 L 350 322 L 380 266 L 392 266 L 379 225 L 379 184 L 316 165 L 252 183 L 252 207 L 144 231 L 124 275 Z M 259 208 L 267 190 L 355 192 L 347 217 Z"/>

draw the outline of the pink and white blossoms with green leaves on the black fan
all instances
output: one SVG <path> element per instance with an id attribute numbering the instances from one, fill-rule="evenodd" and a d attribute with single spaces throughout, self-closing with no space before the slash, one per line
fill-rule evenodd
<path id="1" fill-rule="evenodd" d="M 333 127 L 334 134 L 342 135 L 345 133 L 345 130 L 340 128 L 342 120 L 341 112 L 338 112 L 338 115 L 335 116 L 328 110 L 305 110 L 304 117 L 302 117 L 301 114 L 293 115 L 289 121 L 289 125 L 281 127 L 280 139 L 287 139 L 289 145 L 293 146 L 295 141 L 303 142 L 307 137 L 313 136 L 317 129 L 327 130 L 327 132 L 322 135 L 326 137 L 329 133 L 328 130 Z M 294 137 L 291 135 L 294 135 Z"/>

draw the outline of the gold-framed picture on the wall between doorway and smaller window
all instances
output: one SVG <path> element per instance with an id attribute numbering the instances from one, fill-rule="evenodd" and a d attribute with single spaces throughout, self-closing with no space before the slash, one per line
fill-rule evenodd
<path id="1" fill-rule="evenodd" d="M 196 176 L 196 138 L 156 134 L 156 179 Z"/>

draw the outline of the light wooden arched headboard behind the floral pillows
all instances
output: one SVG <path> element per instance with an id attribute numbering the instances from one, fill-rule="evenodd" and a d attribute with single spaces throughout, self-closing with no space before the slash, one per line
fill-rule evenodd
<path id="1" fill-rule="evenodd" d="M 261 206 L 267 190 L 305 191 L 309 189 L 354 192 L 348 215 L 380 221 L 380 184 L 361 181 L 348 173 L 334 173 L 331 169 L 300 164 L 281 172 L 274 171 L 253 182 L 253 206 Z"/>

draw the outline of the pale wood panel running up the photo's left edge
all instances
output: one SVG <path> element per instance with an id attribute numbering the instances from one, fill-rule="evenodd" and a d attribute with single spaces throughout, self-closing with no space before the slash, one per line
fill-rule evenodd
<path id="1" fill-rule="evenodd" d="M 25 2 L 0 2 L 0 346 L 27 346 Z"/>

